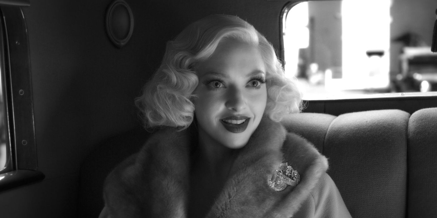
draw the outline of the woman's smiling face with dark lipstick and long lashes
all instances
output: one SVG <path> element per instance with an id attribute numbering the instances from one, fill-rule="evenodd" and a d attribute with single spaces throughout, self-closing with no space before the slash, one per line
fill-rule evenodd
<path id="1" fill-rule="evenodd" d="M 196 65 L 196 71 L 194 113 L 200 139 L 234 149 L 245 146 L 267 102 L 260 51 L 241 41 L 225 40 L 211 58 Z"/>

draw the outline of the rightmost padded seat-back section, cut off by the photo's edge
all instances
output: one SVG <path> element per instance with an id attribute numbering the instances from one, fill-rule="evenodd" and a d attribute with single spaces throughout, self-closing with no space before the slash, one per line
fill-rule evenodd
<path id="1" fill-rule="evenodd" d="M 408 216 L 437 215 L 437 108 L 411 115 L 408 129 Z"/>

